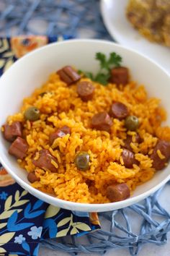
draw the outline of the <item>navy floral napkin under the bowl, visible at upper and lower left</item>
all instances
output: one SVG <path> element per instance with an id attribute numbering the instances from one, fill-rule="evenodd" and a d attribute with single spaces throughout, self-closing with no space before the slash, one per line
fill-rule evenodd
<path id="1" fill-rule="evenodd" d="M 0 39 L 0 75 L 19 57 L 65 38 L 19 36 Z M 0 166 L 0 255 L 37 256 L 41 239 L 81 236 L 100 229 L 97 213 L 56 208 L 30 195 Z"/>

